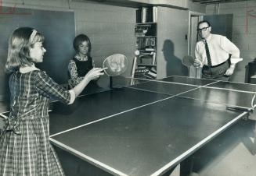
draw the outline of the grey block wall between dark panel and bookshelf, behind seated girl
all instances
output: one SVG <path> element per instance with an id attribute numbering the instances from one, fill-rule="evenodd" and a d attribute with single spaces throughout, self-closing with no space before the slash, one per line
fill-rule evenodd
<path id="1" fill-rule="evenodd" d="M 135 51 L 135 9 L 97 2 L 73 2 L 69 0 L 3 0 L 3 6 L 73 11 L 75 33 L 85 33 L 92 42 L 92 58 L 96 66 L 102 66 L 108 55 L 121 53 L 131 63 L 124 75 L 130 76 Z M 10 30 L 11 32 L 11 30 Z M 47 40 L 47 39 L 46 39 Z M 73 41 L 70 41 L 73 44 Z M 64 48 L 63 48 L 64 49 Z M 106 79 L 106 76 L 103 79 Z"/>

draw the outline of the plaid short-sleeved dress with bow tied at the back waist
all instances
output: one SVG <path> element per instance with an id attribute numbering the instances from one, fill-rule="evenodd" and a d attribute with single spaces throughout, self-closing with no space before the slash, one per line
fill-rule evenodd
<path id="1" fill-rule="evenodd" d="M 1 176 L 64 175 L 49 143 L 49 99 L 70 102 L 70 93 L 41 70 L 9 78 L 10 115 L 0 136 Z"/>

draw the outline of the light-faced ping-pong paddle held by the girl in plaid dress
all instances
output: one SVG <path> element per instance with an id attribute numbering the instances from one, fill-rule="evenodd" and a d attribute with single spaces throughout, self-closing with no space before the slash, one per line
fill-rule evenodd
<path id="1" fill-rule="evenodd" d="M 120 76 L 128 69 L 128 59 L 122 54 L 110 55 L 105 58 L 103 68 L 107 76 Z"/>

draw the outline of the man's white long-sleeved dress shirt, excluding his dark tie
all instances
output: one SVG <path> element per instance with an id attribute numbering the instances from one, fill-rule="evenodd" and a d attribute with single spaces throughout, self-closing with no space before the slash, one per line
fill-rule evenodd
<path id="1" fill-rule="evenodd" d="M 228 60 L 229 54 L 231 54 L 231 64 L 236 64 L 237 62 L 243 60 L 240 58 L 240 50 L 227 37 L 210 33 L 206 40 L 211 55 L 212 66 L 219 65 Z M 204 40 L 197 42 L 195 55 L 197 60 L 200 61 L 201 67 L 207 65 L 207 55 Z"/>

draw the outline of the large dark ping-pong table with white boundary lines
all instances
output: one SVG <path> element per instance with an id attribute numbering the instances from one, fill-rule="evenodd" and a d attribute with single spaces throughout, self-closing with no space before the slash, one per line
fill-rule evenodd
<path id="1" fill-rule="evenodd" d="M 254 110 L 253 84 L 185 76 L 123 81 L 69 106 L 55 102 L 50 112 L 52 144 L 102 175 L 167 174 Z"/>

